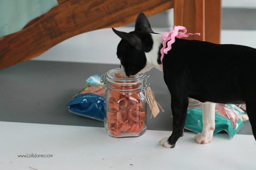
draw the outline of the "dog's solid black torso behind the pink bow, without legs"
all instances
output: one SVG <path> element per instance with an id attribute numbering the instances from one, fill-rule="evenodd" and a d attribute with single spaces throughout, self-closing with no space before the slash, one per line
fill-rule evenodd
<path id="1" fill-rule="evenodd" d="M 167 86 L 200 102 L 244 103 L 256 95 L 256 49 L 176 38 L 163 73 Z"/>

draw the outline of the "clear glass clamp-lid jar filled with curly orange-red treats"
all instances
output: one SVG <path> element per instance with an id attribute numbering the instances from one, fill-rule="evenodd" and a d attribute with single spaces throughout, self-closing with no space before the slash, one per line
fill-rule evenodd
<path id="1" fill-rule="evenodd" d="M 139 137 L 146 132 L 147 102 L 144 91 L 149 86 L 147 75 L 125 78 L 120 68 L 101 76 L 106 84 L 104 127 L 111 137 Z"/>

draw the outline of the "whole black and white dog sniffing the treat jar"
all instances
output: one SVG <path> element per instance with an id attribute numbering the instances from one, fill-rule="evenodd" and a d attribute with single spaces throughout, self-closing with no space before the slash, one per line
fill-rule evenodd
<path id="1" fill-rule="evenodd" d="M 188 97 L 203 103 L 203 131 L 195 136 L 197 143 L 211 141 L 215 103 L 246 103 L 256 138 L 255 48 L 176 38 L 161 63 L 161 34 L 152 31 L 144 13 L 138 15 L 135 31 L 126 33 L 112 29 L 121 37 L 117 57 L 127 76 L 153 67 L 163 71 L 172 99 L 173 133 L 160 141 L 162 146 L 173 148 L 183 136 Z"/>

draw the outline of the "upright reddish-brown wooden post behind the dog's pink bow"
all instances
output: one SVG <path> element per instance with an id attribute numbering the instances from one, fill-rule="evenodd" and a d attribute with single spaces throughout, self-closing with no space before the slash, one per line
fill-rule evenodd
<path id="1" fill-rule="evenodd" d="M 174 24 L 201 33 L 185 39 L 220 43 L 221 0 L 174 0 Z"/>

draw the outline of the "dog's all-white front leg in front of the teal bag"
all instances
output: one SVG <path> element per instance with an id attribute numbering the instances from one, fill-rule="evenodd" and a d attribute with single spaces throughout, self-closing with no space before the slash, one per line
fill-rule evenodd
<path id="1" fill-rule="evenodd" d="M 197 143 L 211 142 L 215 130 L 215 103 L 202 103 L 203 108 L 203 131 L 195 136 Z"/>

